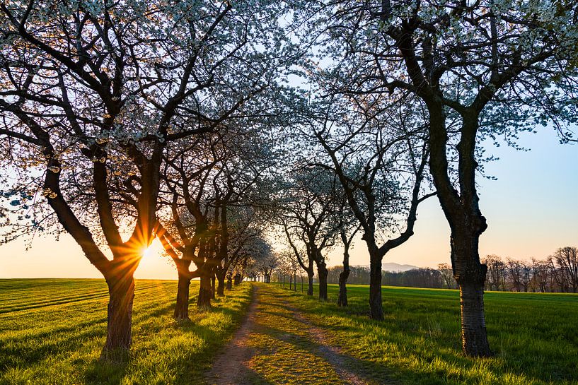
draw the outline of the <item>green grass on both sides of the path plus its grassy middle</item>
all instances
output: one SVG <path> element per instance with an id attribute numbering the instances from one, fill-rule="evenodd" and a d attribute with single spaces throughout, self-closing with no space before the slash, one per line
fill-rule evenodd
<path id="1" fill-rule="evenodd" d="M 336 285 L 325 303 L 256 285 L 254 384 L 335 380 L 307 328 L 323 333 L 342 365 L 370 384 L 578 384 L 578 295 L 487 292 L 495 357 L 473 360 L 461 355 L 456 290 L 384 287 L 386 319 L 378 322 L 367 316 L 363 285 L 349 286 L 347 308 L 335 306 Z M 252 284 L 203 311 L 194 304 L 197 288 L 193 281 L 192 321 L 175 323 L 176 282 L 137 280 L 130 357 L 111 364 L 99 360 L 108 301 L 102 280 L 0 280 L 0 384 L 205 384 L 247 312 Z"/>

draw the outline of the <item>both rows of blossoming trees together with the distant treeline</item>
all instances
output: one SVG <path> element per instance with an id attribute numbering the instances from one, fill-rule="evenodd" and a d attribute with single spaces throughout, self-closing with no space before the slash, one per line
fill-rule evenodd
<path id="1" fill-rule="evenodd" d="M 564 0 L 0 1 L 2 242 L 79 244 L 108 284 L 108 357 L 131 345 L 155 238 L 186 321 L 193 278 L 199 307 L 243 278 L 296 289 L 301 271 L 347 306 L 359 233 L 380 320 L 383 257 L 437 199 L 451 266 L 408 282 L 457 283 L 463 353 L 490 356 L 485 288 L 577 291 L 575 248 L 480 260 L 476 184 L 482 142 L 540 124 L 575 141 L 576 47 Z"/>

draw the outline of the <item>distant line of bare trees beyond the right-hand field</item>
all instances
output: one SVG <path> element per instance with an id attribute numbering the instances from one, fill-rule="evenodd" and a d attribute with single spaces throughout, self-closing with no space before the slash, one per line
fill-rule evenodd
<path id="1" fill-rule="evenodd" d="M 485 289 L 514 292 L 578 292 L 578 247 L 561 247 L 547 259 L 502 258 L 488 255 Z M 369 268 L 351 267 L 347 283 L 369 284 Z M 341 266 L 329 268 L 328 283 L 339 283 Z M 381 272 L 381 284 L 412 288 L 456 288 L 451 267 L 441 263 L 438 268 L 415 268 L 398 273 Z"/>

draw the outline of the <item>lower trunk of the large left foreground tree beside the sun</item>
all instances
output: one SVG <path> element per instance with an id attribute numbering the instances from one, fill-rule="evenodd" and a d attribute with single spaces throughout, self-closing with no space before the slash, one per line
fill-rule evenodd
<path id="1" fill-rule="evenodd" d="M 116 350 L 128 350 L 132 342 L 132 303 L 134 300 L 134 278 L 132 274 L 121 278 L 107 279 L 108 319 L 106 343 L 103 355 Z"/>

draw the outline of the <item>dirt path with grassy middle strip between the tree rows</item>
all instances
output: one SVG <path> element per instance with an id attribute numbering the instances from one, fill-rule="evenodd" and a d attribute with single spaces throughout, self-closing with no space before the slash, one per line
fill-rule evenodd
<path id="1" fill-rule="evenodd" d="M 327 331 L 291 307 L 287 292 L 254 285 L 248 316 L 216 358 L 212 385 L 350 384 L 372 385 L 355 372 L 351 357 L 330 345 Z"/>

